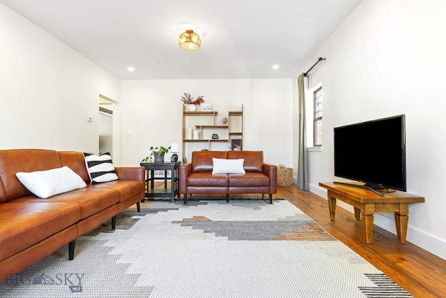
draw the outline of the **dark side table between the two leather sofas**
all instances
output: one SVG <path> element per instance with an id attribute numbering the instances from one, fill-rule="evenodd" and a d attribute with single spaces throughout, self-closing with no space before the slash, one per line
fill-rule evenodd
<path id="1" fill-rule="evenodd" d="M 140 163 L 141 167 L 146 169 L 147 191 L 146 198 L 171 198 L 171 202 L 175 202 L 175 196 L 180 198 L 178 190 L 178 169 L 180 161 L 174 163 Z M 164 177 L 155 177 L 155 171 L 164 171 Z M 170 171 L 170 178 L 167 177 L 167 171 Z M 150 175 L 149 175 L 150 172 Z M 164 180 L 164 188 L 154 188 L 155 180 Z M 167 181 L 171 181 L 171 187 L 167 188 Z M 150 181 L 150 187 L 149 187 Z"/>

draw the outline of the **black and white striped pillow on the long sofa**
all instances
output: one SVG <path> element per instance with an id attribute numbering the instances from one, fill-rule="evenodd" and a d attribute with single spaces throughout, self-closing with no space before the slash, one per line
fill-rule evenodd
<path id="1" fill-rule="evenodd" d="M 89 172 L 91 184 L 118 180 L 114 170 L 112 156 L 109 152 L 100 156 L 84 153 L 86 170 Z"/>

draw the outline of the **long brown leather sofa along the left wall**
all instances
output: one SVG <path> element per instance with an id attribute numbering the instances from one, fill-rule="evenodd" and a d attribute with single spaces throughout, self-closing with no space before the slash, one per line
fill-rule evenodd
<path id="1" fill-rule="evenodd" d="M 17 179 L 17 172 L 68 166 L 86 188 L 38 198 Z M 89 184 L 84 155 L 46 149 L 0 150 L 0 283 L 69 244 L 144 199 L 144 167 L 116 167 L 118 180 Z"/>

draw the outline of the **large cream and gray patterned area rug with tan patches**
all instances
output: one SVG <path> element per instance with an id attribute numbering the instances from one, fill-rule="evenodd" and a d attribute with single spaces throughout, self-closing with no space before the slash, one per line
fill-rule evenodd
<path id="1" fill-rule="evenodd" d="M 286 200 L 150 201 L 0 284 L 0 297 L 411 297 Z"/>

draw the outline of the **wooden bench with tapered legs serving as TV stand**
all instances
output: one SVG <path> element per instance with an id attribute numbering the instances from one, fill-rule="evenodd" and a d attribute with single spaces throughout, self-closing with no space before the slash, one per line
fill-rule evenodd
<path id="1" fill-rule="evenodd" d="M 357 184 L 362 185 L 361 183 Z M 371 243 L 375 212 L 394 212 L 398 240 L 401 244 L 406 242 L 409 203 L 424 202 L 423 197 L 410 195 L 410 193 L 402 191 L 384 193 L 384 197 L 380 197 L 367 189 L 344 184 L 320 182 L 319 186 L 328 190 L 328 210 L 332 221 L 334 221 L 336 211 L 336 200 L 351 204 L 355 208 L 355 218 L 358 221 L 361 218 L 362 230 L 367 244 Z"/>

